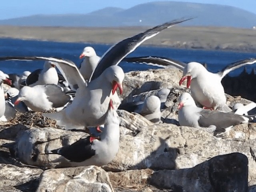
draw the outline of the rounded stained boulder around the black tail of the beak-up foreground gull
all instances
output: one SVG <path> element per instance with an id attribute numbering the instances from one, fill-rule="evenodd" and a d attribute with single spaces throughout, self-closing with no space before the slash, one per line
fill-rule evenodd
<path id="1" fill-rule="evenodd" d="M 46 153 L 70 145 L 85 136 L 88 134 L 56 128 L 31 128 L 20 133 L 13 150 L 16 158 L 25 164 L 47 168 L 65 167 L 70 165 L 68 160 Z"/>

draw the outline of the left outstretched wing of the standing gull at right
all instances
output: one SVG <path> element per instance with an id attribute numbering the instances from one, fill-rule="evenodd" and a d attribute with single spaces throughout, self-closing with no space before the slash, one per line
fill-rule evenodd
<path id="1" fill-rule="evenodd" d="M 186 67 L 186 63 L 177 61 L 167 57 L 159 56 L 142 56 L 142 57 L 128 57 L 124 58 L 122 61 L 134 62 L 134 63 L 145 63 L 148 65 L 159 66 L 159 67 L 170 67 L 174 66 L 180 70 L 183 70 Z"/>

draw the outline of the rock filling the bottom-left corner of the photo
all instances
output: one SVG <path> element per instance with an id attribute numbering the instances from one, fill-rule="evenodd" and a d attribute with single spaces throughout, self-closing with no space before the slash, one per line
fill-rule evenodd
<path id="1" fill-rule="evenodd" d="M 34 191 L 37 187 L 37 182 L 43 170 L 38 168 L 18 167 L 11 164 L 0 164 L 0 191 L 19 191 L 12 190 L 11 186 L 16 186 L 17 189 L 30 188 L 29 191 Z M 36 184 L 34 184 L 36 182 Z M 22 190 L 23 191 L 23 190 Z"/>

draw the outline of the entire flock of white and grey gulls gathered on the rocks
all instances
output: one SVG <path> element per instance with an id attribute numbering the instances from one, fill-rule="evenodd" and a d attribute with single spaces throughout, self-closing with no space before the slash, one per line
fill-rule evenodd
<path id="1" fill-rule="evenodd" d="M 43 69 L 23 74 L 4 74 L 0 71 L 0 117 L 10 120 L 15 112 L 44 112 L 56 124 L 66 130 L 85 130 L 96 127 L 100 136 L 90 134 L 71 145 L 54 149 L 48 154 L 59 154 L 74 166 L 108 164 L 119 148 L 119 118 L 117 109 L 137 112 L 148 120 L 159 123 L 161 108 L 170 90 L 162 89 L 144 101 L 121 104 L 118 96 L 123 92 L 124 71 L 121 61 L 153 64 L 163 68 L 176 67 L 183 70 L 180 85 L 186 80 L 185 92 L 179 97 L 178 120 L 181 126 L 207 128 L 209 132 L 225 132 L 228 128 L 254 121 L 247 111 L 256 107 L 236 105 L 233 112 L 226 105 L 226 96 L 221 84 L 222 78 L 241 66 L 256 63 L 256 58 L 236 61 L 218 73 L 209 72 L 197 62 L 188 64 L 158 56 L 126 58 L 144 41 L 156 36 L 162 30 L 188 19 L 178 19 L 150 28 L 145 32 L 126 38 L 98 56 L 92 47 L 85 47 L 80 54 L 84 59 L 78 68 L 74 62 L 64 58 L 41 56 L 0 57 L 4 60 L 44 60 Z M 61 74 L 58 74 L 56 68 Z M 11 88 L 6 89 L 4 84 Z M 191 94 L 190 94 L 190 93 Z M 248 109 L 249 108 L 249 109 Z M 49 112 L 55 109 L 55 112 Z M 11 111 L 11 112 L 10 112 Z M 102 127 L 103 126 L 103 127 Z"/>

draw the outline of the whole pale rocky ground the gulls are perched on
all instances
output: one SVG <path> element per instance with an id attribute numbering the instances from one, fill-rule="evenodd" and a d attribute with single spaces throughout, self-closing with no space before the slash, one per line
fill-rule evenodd
<path id="1" fill-rule="evenodd" d="M 49 126 L 32 113 L 26 124 L 13 120 L 0 130 L 0 192 L 256 192 L 256 124 L 235 126 L 222 137 L 206 129 L 178 125 L 177 98 L 188 91 L 178 85 L 179 70 L 129 72 L 126 100 L 144 100 L 153 90 L 170 89 L 162 122 L 118 110 L 120 148 L 114 160 L 100 167 L 69 167 L 47 151 L 74 143 L 85 133 Z M 136 98 L 135 98 L 136 95 Z M 229 106 L 249 103 L 227 95 Z M 36 120 L 39 119 L 39 120 Z M 23 121 L 23 124 L 14 125 Z M 54 124 L 50 124 L 54 126 Z"/>

